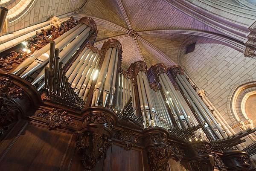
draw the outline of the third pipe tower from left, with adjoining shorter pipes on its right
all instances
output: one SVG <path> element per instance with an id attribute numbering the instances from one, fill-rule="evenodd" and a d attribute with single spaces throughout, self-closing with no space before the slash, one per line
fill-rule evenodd
<path id="1" fill-rule="evenodd" d="M 131 64 L 128 70 L 133 75 L 133 80 L 138 89 L 138 99 L 140 104 L 140 113 L 144 120 L 144 127 L 160 126 L 171 128 L 172 122 L 167 112 L 163 97 L 160 96 L 159 90 L 153 90 L 148 82 L 146 75 L 147 66 L 143 61 L 137 61 Z M 133 90 L 134 91 L 134 90 Z"/>

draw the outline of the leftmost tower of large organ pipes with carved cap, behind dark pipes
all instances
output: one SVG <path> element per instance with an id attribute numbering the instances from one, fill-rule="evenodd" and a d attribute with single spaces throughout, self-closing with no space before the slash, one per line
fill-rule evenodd
<path id="1" fill-rule="evenodd" d="M 55 48 L 60 50 L 59 53 L 59 62 L 62 62 L 63 67 L 67 64 L 67 61 L 73 57 L 76 51 L 80 46 L 88 40 L 88 37 L 93 34 L 96 30 L 95 22 L 89 17 L 82 17 L 79 20 L 80 24 L 75 26 L 73 29 L 70 29 L 68 32 L 64 33 L 57 39 L 55 39 Z M 27 58 L 23 61 L 20 66 L 18 66 L 13 73 L 20 73 L 29 65 L 29 67 L 21 73 L 20 77 L 25 78 L 28 75 L 31 75 L 33 72 L 41 69 L 45 65 L 49 67 L 49 58 L 50 58 L 50 43 L 38 52 L 35 52 L 32 57 Z M 52 62 L 52 61 L 51 61 Z M 38 74 L 38 76 L 32 81 L 32 85 L 35 85 L 44 78 L 44 69 Z M 44 81 L 41 81 L 38 90 L 44 87 Z"/>

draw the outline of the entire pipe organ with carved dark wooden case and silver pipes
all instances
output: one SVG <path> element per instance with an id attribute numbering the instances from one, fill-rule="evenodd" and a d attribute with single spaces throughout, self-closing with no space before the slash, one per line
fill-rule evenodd
<path id="1" fill-rule="evenodd" d="M 255 171 L 235 148 L 255 129 L 227 135 L 180 66 L 123 70 L 97 32 L 71 18 L 1 59 L 1 171 Z"/>

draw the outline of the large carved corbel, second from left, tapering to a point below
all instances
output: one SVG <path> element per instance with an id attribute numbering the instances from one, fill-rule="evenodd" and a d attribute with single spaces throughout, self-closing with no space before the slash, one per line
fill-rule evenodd
<path id="1" fill-rule="evenodd" d="M 76 132 L 76 146 L 85 171 L 90 171 L 111 145 L 115 113 L 103 107 L 91 107 L 82 128 Z"/>

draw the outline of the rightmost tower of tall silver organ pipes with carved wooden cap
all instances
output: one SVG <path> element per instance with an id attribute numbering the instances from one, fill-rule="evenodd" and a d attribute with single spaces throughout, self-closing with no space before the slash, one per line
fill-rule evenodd
<path id="1" fill-rule="evenodd" d="M 193 89 L 192 85 L 183 75 L 182 69 L 179 66 L 171 66 L 168 68 L 168 72 L 172 72 L 170 75 L 172 75 L 172 77 L 176 79 L 177 84 L 183 91 L 192 108 L 195 110 L 195 113 L 198 115 L 199 119 L 202 122 L 207 123 L 205 127 L 211 135 L 211 138 L 222 139 L 224 137 L 227 137 L 227 135 L 223 132 L 221 127 L 216 122 L 215 118 L 212 116 L 212 113 L 209 111 L 208 107 L 204 104 L 202 99 Z"/>

